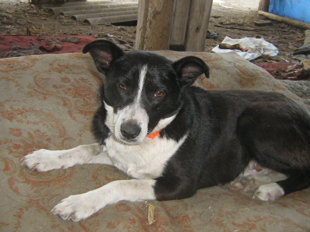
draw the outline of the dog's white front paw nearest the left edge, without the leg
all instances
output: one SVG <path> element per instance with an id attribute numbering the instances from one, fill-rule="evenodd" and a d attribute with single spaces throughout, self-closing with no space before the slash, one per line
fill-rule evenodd
<path id="1" fill-rule="evenodd" d="M 25 165 L 27 168 L 38 172 L 45 172 L 60 168 L 65 169 L 72 165 L 67 164 L 67 159 L 62 159 L 62 156 L 65 153 L 64 151 L 40 149 L 21 158 L 21 165 Z"/>

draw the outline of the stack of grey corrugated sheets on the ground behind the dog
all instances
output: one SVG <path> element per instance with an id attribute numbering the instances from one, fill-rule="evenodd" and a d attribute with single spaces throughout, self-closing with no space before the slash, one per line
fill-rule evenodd
<path id="1" fill-rule="evenodd" d="M 49 12 L 72 16 L 91 25 L 120 23 L 138 20 L 138 3 L 68 2 L 61 7 L 50 8 Z"/>

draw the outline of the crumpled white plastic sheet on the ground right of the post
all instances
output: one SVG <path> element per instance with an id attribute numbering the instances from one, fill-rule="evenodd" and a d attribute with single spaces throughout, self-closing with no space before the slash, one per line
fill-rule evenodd
<path id="1" fill-rule="evenodd" d="M 246 60 L 254 60 L 261 55 L 276 56 L 279 51 L 272 44 L 262 39 L 256 39 L 252 37 L 246 37 L 242 39 L 232 39 L 228 36 L 222 41 L 223 44 L 235 45 L 239 44 L 242 48 L 248 49 L 247 52 L 242 52 L 237 49 L 220 49 L 219 45 L 212 49 L 212 52 L 225 53 L 225 52 L 236 52 L 239 56 Z"/>

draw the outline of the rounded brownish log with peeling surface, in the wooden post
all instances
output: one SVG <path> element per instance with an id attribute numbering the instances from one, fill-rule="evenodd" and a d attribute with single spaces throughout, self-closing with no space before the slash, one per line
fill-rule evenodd
<path id="1" fill-rule="evenodd" d="M 174 0 L 149 0 L 144 50 L 167 50 L 170 45 Z"/>

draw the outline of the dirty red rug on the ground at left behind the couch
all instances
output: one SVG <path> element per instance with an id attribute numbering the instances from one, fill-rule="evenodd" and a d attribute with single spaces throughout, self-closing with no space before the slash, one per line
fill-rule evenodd
<path id="1" fill-rule="evenodd" d="M 5 58 L 5 55 L 6 57 L 12 57 L 12 56 L 21 56 L 25 54 L 32 55 L 32 53 L 60 54 L 60 53 L 82 52 L 83 47 L 87 43 L 94 40 L 96 40 L 96 38 L 92 36 L 37 37 L 37 36 L 0 35 L 0 58 Z M 7 52 L 9 52 L 9 54 Z"/>

